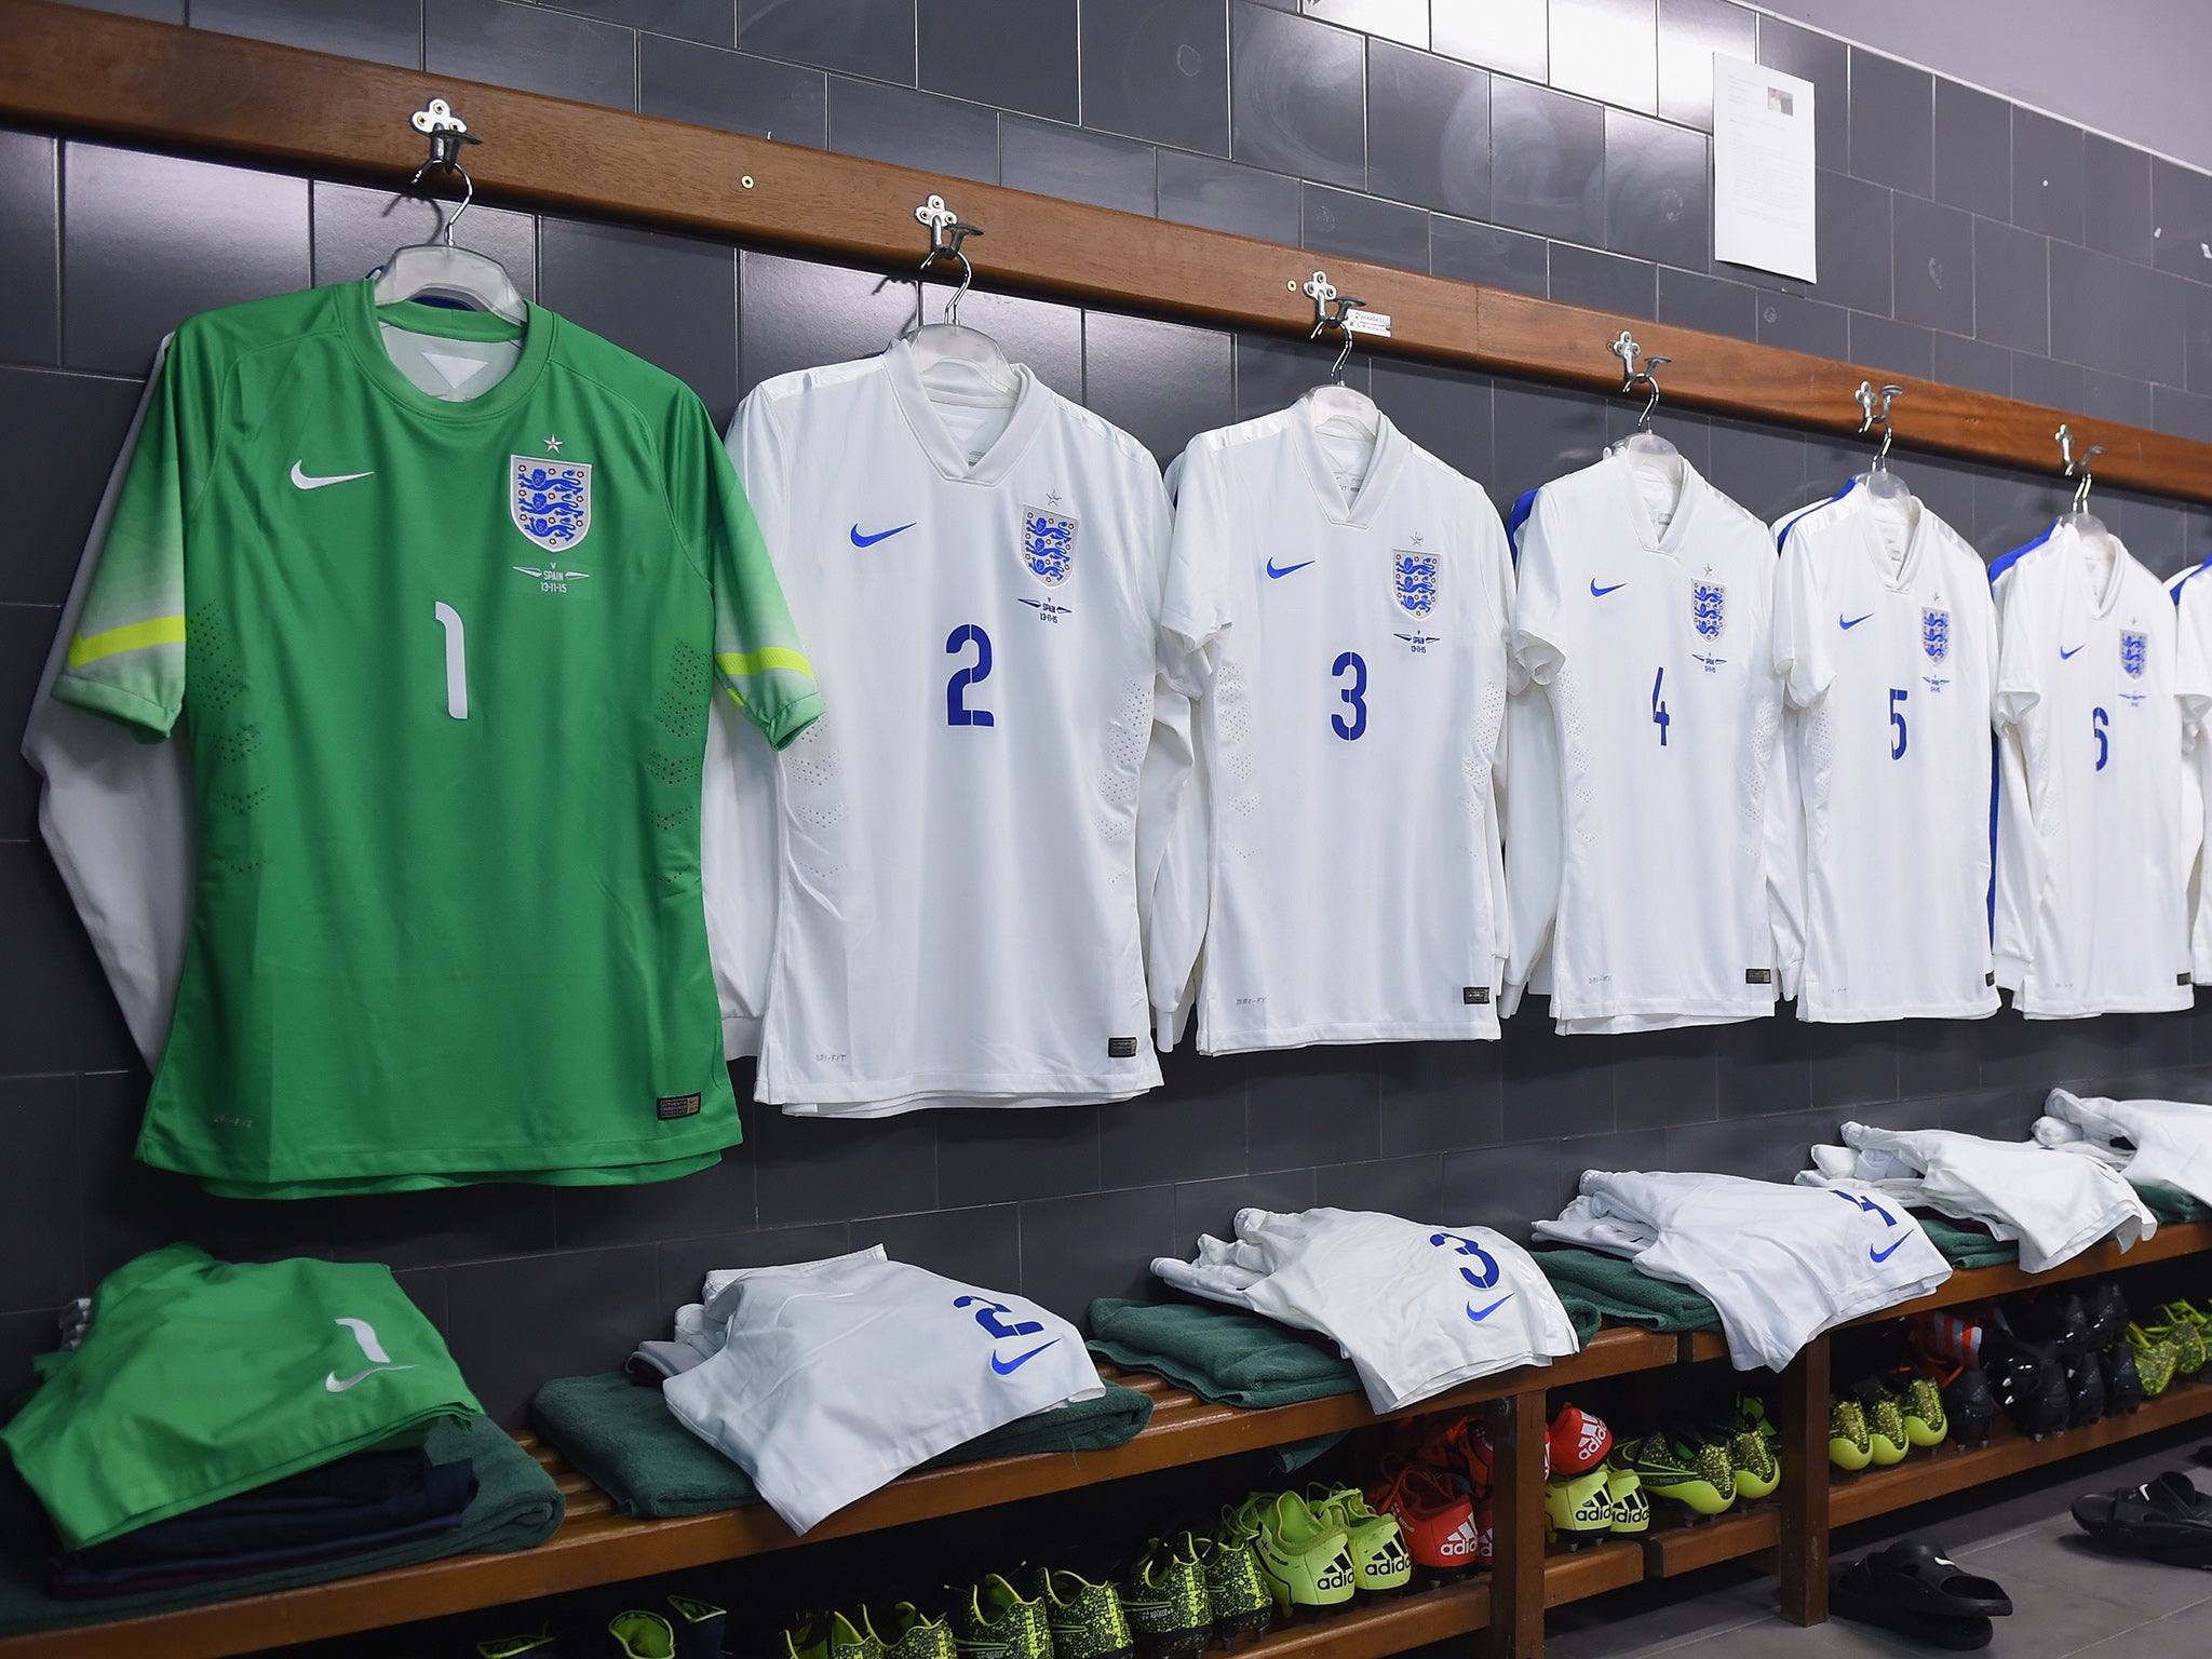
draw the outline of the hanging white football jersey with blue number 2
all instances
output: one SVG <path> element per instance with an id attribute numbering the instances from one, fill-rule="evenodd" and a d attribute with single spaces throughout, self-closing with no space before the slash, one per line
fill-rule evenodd
<path id="1" fill-rule="evenodd" d="M 763 383 L 730 427 L 823 641 L 827 714 L 774 757 L 757 1093 L 792 1113 L 1159 1084 L 1137 796 L 1168 495 L 1135 438 L 1015 380 L 933 394 L 900 341 Z"/>

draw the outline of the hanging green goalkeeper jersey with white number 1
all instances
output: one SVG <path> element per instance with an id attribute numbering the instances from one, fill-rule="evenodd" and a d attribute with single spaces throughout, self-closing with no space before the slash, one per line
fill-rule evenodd
<path id="1" fill-rule="evenodd" d="M 179 327 L 55 681 L 190 743 L 139 1157 L 250 1197 L 712 1164 L 717 688 L 776 745 L 821 712 L 681 383 L 365 281 Z"/>

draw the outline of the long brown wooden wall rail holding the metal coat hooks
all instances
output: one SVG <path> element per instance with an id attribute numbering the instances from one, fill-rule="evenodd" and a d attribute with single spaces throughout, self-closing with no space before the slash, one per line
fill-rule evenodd
<path id="1" fill-rule="evenodd" d="M 1442 276 L 1321 257 L 794 144 L 568 104 L 292 46 L 139 22 L 44 0 L 0 0 L 0 119 L 398 186 L 420 164 L 407 115 L 447 97 L 482 148 L 469 173 L 487 201 L 650 223 L 836 254 L 896 270 L 925 246 L 914 206 L 940 190 L 987 228 L 987 288 L 1303 334 L 1296 283 L 1327 265 L 1345 294 L 1389 312 L 1396 338 L 1363 341 L 1444 363 L 1619 385 L 1606 354 L 1621 327 L 1672 354 L 1668 400 L 1818 431 L 1854 431 L 1863 378 L 1907 387 L 1898 440 L 2026 471 L 2055 471 L 2051 434 L 2070 420 L 2106 453 L 2112 484 L 2212 502 L 2212 445 L 1849 363 L 1621 319 Z"/>

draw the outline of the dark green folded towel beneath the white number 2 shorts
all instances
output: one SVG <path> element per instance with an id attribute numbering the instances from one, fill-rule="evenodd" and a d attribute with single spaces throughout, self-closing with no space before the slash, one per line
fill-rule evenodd
<path id="1" fill-rule="evenodd" d="M 538 1389 L 531 1416 L 544 1438 L 615 1502 L 617 1515 L 706 1515 L 761 1502 L 752 1475 L 695 1436 L 661 1398 L 622 1371 L 564 1376 Z M 1020 1418 L 922 1464 L 945 1469 L 1031 1451 L 1099 1451 L 1144 1433 L 1152 1400 L 1106 1385 L 1097 1400 Z"/>

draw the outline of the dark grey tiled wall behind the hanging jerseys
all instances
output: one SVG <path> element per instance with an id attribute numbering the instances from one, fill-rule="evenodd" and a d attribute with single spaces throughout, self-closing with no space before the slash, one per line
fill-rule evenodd
<path id="1" fill-rule="evenodd" d="M 2205 175 L 1725 0 L 1303 11 L 190 2 L 199 27 L 772 131 L 953 184 L 1084 197 L 2212 438 Z M 1714 46 L 1820 86 L 1816 288 L 1710 259 Z M 208 305 L 358 276 L 429 223 L 420 204 L 394 212 L 356 186 L 0 133 L 0 732 L 22 726 L 161 330 Z M 542 303 L 681 374 L 717 418 L 770 374 L 878 349 L 911 305 L 909 288 L 872 272 L 681 237 L 493 208 L 471 210 L 462 232 Z M 1272 336 L 991 292 L 964 316 L 1164 458 L 1318 374 L 1310 347 Z M 1500 502 L 1590 460 L 1632 414 L 1387 358 L 1354 358 L 1352 378 Z M 1909 434 L 1909 405 L 1898 420 Z M 1734 420 L 1666 427 L 1765 518 L 1832 491 L 1863 456 Z M 2051 478 L 1911 453 L 1900 471 L 1989 555 L 2059 502 Z M 2154 571 L 2212 551 L 2199 509 L 2119 491 L 2099 507 Z M 1239 1203 L 1520 1228 L 1588 1166 L 1787 1175 L 1845 1115 L 2020 1133 L 2055 1079 L 2212 1084 L 2212 1002 L 2081 1024 L 1783 1018 L 1577 1040 L 1531 1013 L 1502 1044 L 1181 1053 L 1164 1091 L 1121 1106 L 883 1124 L 752 1113 L 741 1152 L 666 1188 L 226 1203 L 128 1159 L 146 1084 L 38 843 L 33 783 L 0 765 L 0 1385 L 46 1343 L 55 1303 L 175 1237 L 219 1254 L 394 1263 L 487 1405 L 513 1420 L 538 1380 L 617 1360 L 708 1265 L 880 1239 L 1075 1314 L 1137 1290 L 1148 1256 L 1223 1228 Z"/>

